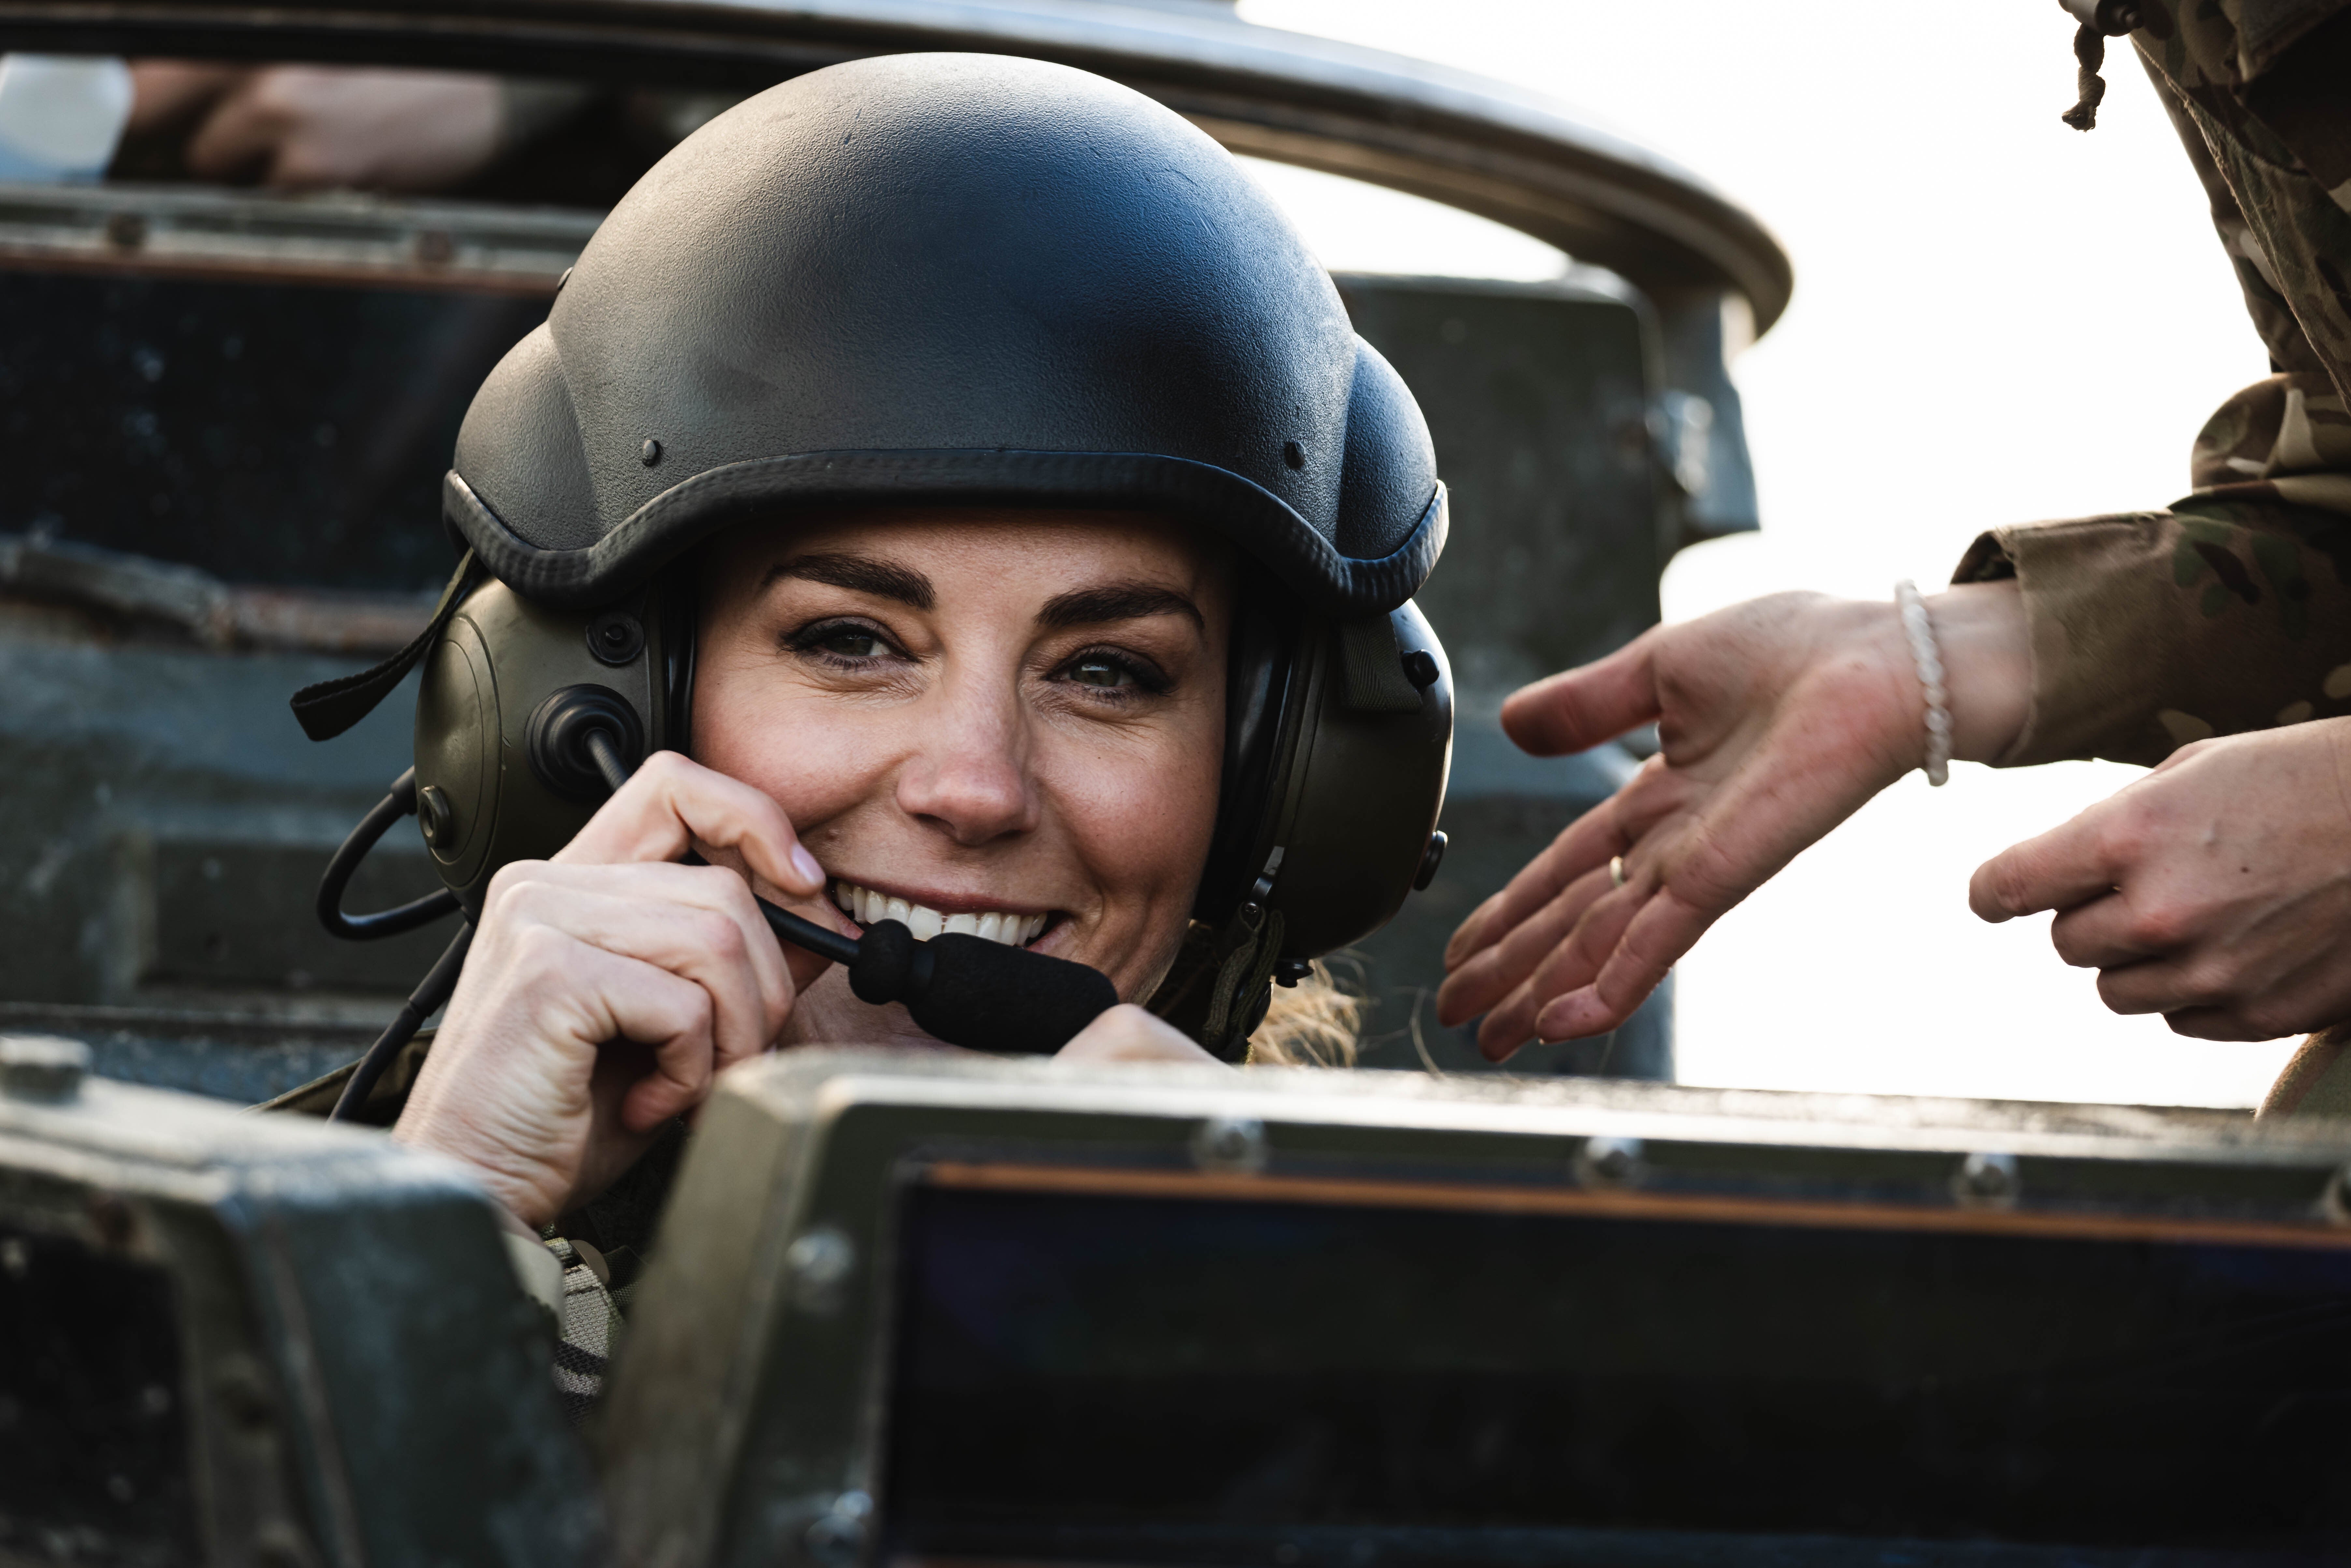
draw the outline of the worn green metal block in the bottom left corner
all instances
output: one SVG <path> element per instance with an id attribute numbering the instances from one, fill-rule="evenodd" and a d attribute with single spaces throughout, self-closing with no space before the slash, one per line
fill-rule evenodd
<path id="1" fill-rule="evenodd" d="M 63 1389 L 49 1432 L 82 1495 L 0 1495 L 0 1556 L 595 1561 L 545 1314 L 456 1166 L 379 1133 L 78 1081 L 59 1060 L 0 1039 L 0 1316 L 16 1373 L 106 1378 Z M 96 1302 L 52 1284 L 94 1274 L 118 1276 L 106 1307 L 136 1321 L 96 1335 L 110 1363 L 59 1361 L 103 1321 L 78 1321 Z"/>

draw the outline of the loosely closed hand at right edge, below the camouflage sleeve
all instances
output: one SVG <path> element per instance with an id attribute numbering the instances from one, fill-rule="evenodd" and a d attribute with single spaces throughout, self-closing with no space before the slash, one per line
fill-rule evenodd
<path id="1" fill-rule="evenodd" d="M 2184 745 L 1968 884 L 1984 919 L 2059 910 L 2057 957 L 2116 1013 L 2196 1039 L 2351 1018 L 2351 719 Z"/>

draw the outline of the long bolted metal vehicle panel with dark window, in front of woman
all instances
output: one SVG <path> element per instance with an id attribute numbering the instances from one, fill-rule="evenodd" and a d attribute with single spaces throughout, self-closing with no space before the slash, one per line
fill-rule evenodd
<path id="1" fill-rule="evenodd" d="M 1968 1455 L 1996 1453 L 2017 1436 L 2062 1436 L 2067 1422 L 2097 1427 L 2104 1439 L 2121 1432 L 2106 1458 L 2137 1443 L 2128 1455 L 2132 1486 L 2161 1476 L 2193 1488 L 2226 1469 L 2229 1455 L 2243 1455 L 2245 1443 L 2288 1432 L 2278 1422 L 2304 1422 L 2292 1427 L 2292 1443 L 2302 1446 L 2290 1460 L 2304 1486 L 2273 1497 L 2273 1516 L 2259 1512 L 2266 1502 L 2241 1507 L 2262 1495 L 2259 1476 L 2252 1490 L 2186 1500 L 2182 1516 L 2212 1505 L 2208 1523 L 2217 1521 L 2241 1547 L 2278 1552 L 2264 1561 L 2318 1561 L 2313 1547 L 2339 1544 L 2351 1516 L 2339 1490 L 2306 1486 L 2339 1462 L 2306 1467 L 2306 1443 L 2339 1448 L 2344 1436 L 2292 1389 L 2325 1389 L 2332 1401 L 2351 1387 L 2351 1349 L 2339 1335 L 2351 1300 L 2346 1157 L 2351 1133 L 2323 1119 L 2255 1124 L 2212 1112 L 1655 1084 L 1089 1072 L 938 1053 L 790 1053 L 729 1074 L 701 1121 L 663 1255 L 639 1288 L 632 1340 L 616 1368 L 604 1429 L 609 1500 L 623 1554 L 661 1549 L 684 1563 L 835 1563 L 853 1561 L 877 1540 L 915 1547 L 915 1556 L 936 1544 L 943 1556 L 1020 1561 L 1883 1561 L 1883 1540 L 1857 1537 L 1871 1535 L 1893 1509 L 1838 1514 L 1841 1481 L 1855 1467 L 1883 1467 L 1893 1453 L 1838 1443 L 1876 1441 L 1871 1432 L 1886 1432 L 1883 1422 L 1841 1436 L 1834 1422 L 1815 1432 L 1822 1441 L 1813 1462 L 1794 1476 L 1806 1495 L 1789 1507 L 1749 1497 L 1719 1509 L 1709 1488 L 1676 1486 L 1695 1450 L 1627 1443 L 1657 1410 L 1634 1373 L 1662 1373 L 1669 1401 L 1721 1415 L 1695 1432 L 1709 1462 L 1721 1462 L 1723 1439 L 1733 1448 L 1770 1441 L 1759 1427 L 1740 1427 L 1740 1401 L 1794 1401 L 1789 1410 L 1801 1425 L 1813 1408 L 1806 1382 L 1813 1368 L 1822 1394 L 1916 1401 L 1904 1408 L 1928 1418 L 1916 1427 L 1928 1446 L 1916 1465 L 1928 1493 L 1942 1474 L 1933 1472 L 1935 1460 L 1972 1462 Z M 1378 1382 L 1408 1392 L 1425 1375 L 1425 1399 L 1413 1406 L 1422 1413 L 1465 1410 L 1462 1401 L 1488 1373 L 1483 1387 L 1507 1401 L 1519 1371 L 1561 1363 L 1587 1366 L 1603 1385 L 1610 1368 L 1625 1373 L 1625 1399 L 1596 1394 L 1580 1408 L 1538 1410 L 1563 1443 L 1556 1450 L 1563 1467 L 1523 1476 L 1519 1502 L 1467 1509 L 1462 1519 L 1432 1523 L 1432 1493 L 1441 1497 L 1453 1479 L 1474 1474 L 1509 1481 L 1531 1450 L 1481 1446 L 1476 1429 L 1411 1450 L 1413 1422 L 1404 1420 L 1382 1429 L 1394 1439 L 1387 1462 L 1418 1453 L 1399 1483 L 1298 1512 L 1284 1497 L 1302 1495 L 1293 1486 L 1300 1469 L 1312 1474 L 1328 1448 L 1270 1441 L 1295 1434 L 1298 1420 L 1312 1427 L 1312 1410 L 1284 1406 L 1272 1434 L 1223 1429 L 1227 1443 L 1262 1441 L 1255 1458 L 1267 1486 L 1258 1490 L 1208 1500 L 1180 1490 L 1178 1472 L 1187 1465 L 1213 1469 L 1225 1458 L 1218 1443 L 1206 1443 L 1194 1455 L 1171 1453 L 1164 1469 L 1119 1467 L 1110 1486 L 1077 1497 L 1079 1507 L 1056 1509 L 1044 1528 L 1018 1540 L 983 1540 L 985 1530 L 955 1542 L 910 1540 L 891 1514 L 898 1493 L 886 1455 L 891 1422 L 915 1408 L 896 1382 L 905 1368 L 905 1314 L 919 1307 L 912 1293 L 924 1284 L 922 1260 L 907 1255 L 910 1227 L 922 1225 L 922 1194 L 940 1187 L 1070 1204 L 1187 1204 L 1211 1241 L 1213 1262 L 1192 1255 L 1164 1288 L 1138 1279 L 1133 1298 L 1114 1309 L 1074 1293 L 1056 1300 L 1056 1272 L 1105 1262 L 1147 1272 L 1164 1262 L 1150 1225 L 1112 1225 L 1086 1244 L 1037 1232 L 1027 1260 L 987 1248 L 955 1253 L 955 1333 L 994 1321 L 1018 1340 L 1004 1354 L 957 1340 L 947 1366 L 957 1387 L 990 1389 L 999 1415 L 990 1441 L 1051 1436 L 1053 1422 L 1037 1415 L 1051 1408 L 1056 1368 L 1084 1366 L 1096 1340 L 1119 1342 L 1117 1378 L 1128 1389 L 1140 1394 L 1157 1380 L 1178 1399 L 1190 1392 L 1194 1368 L 1241 1363 L 1281 1345 L 1307 1349 L 1277 1373 L 1349 1345 L 1342 1399 Z M 1277 1218 L 1262 1220 L 1270 1213 Z M 1345 1260 L 1328 1258 L 1314 1237 L 1342 1213 L 1361 1215 L 1340 1229 L 1352 1227 L 1357 1244 L 1368 1239 L 1357 1260 L 1366 1267 L 1357 1269 L 1352 1293 L 1324 1293 L 1349 1274 L 1324 1272 L 1324 1262 Z M 1599 1260 L 1594 1267 L 1606 1265 L 1606 1274 L 1585 1279 L 1578 1253 L 1556 1246 L 1566 1232 L 1545 1229 L 1552 1220 L 1580 1227 L 1587 1241 L 1599 1232 L 1615 1237 L 1601 1239 L 1603 1253 L 1639 1246 L 1610 1253 L 1613 1262 Z M 1479 1229 L 1488 1244 L 1458 1258 L 1460 1267 L 1441 1260 Z M 1796 1260 L 1827 1267 L 1831 1255 L 1893 1267 L 1864 1267 L 1815 1302 L 1841 1314 L 1853 1333 L 1806 1340 L 1803 1324 L 1784 1314 L 1820 1281 Z M 1775 1260 L 1796 1272 L 1775 1276 Z M 2193 1281 L 2196 1295 L 2125 1291 L 2104 1298 L 2118 1312 L 2109 1319 L 2062 1286 L 2092 1276 L 2116 1286 L 2146 1269 Z M 1392 1316 L 1399 1305 L 1434 1302 L 1476 1272 L 1516 1274 L 1516 1295 L 1507 1305 L 1451 1300 L 1418 1324 L 1399 1326 Z M 1215 1312 L 1190 1309 L 1206 1298 L 1215 1298 Z M 1982 1312 L 1970 1312 L 1970 1302 Z M 1615 1347 L 1587 1333 L 1540 1333 L 1552 1316 L 1587 1312 L 1617 1335 Z M 1535 1342 L 1505 1345 L 1505 1324 L 1519 1324 L 1509 1333 L 1538 1333 Z M 1998 1333 L 1987 1333 L 1994 1324 Z M 1759 1333 L 1766 1326 L 1775 1333 Z M 2304 1361 L 2276 1354 L 2288 1340 Z M 1025 1368 L 1011 1394 L 990 1382 L 1009 1366 Z M 2052 1378 L 2003 1382 L 1994 1375 L 2003 1366 L 2048 1368 Z M 2165 1392 L 2229 1406 L 2236 1399 L 2222 1373 L 2229 1366 L 2266 1380 L 2257 1408 L 2161 1432 L 2149 1425 L 2142 1436 L 2111 1422 L 2128 1401 L 2151 1415 L 2184 1408 L 2165 1406 Z M 1702 1389 L 1721 1403 L 1709 1406 L 1714 1394 Z M 1991 1425 L 1937 1432 L 1935 1410 L 1944 1403 L 1989 1410 Z M 1147 1425 L 1121 1427 L 1121 1415 L 1096 1413 L 1096 1420 L 1105 1443 L 1152 1439 Z M 1895 1425 L 1902 1420 L 1909 1418 Z M 1060 1427 L 1053 1441 L 1084 1441 L 1084 1432 Z M 1354 1427 L 1331 1436 L 1361 1455 L 1368 1434 Z M 1049 1465 L 1046 1448 L 1027 1453 Z M 1018 1453 L 1009 1448 L 1004 1458 Z M 1594 1486 L 1592 1460 L 1601 1460 L 1603 1479 L 1608 1465 L 1617 1467 L 1613 1486 Z M 1582 1469 L 1575 1495 L 1563 1490 L 1566 1467 Z M 1540 1483 L 1545 1474 L 1552 1486 Z M 2038 1474 L 2052 1472 L 2043 1465 Z M 1051 1486 L 1053 1474 L 1030 1481 Z M 2116 1509 L 2111 1488 L 2095 1505 L 2104 1509 L 2102 1537 L 2036 1544 L 2034 1519 L 2057 1519 L 2081 1500 L 2062 1488 L 2034 1497 L 2029 1481 L 2017 1472 L 1991 1476 L 1991 1486 L 2005 1488 L 1991 1502 L 1970 1488 L 1944 1488 L 1921 1514 L 1930 1528 L 1965 1535 L 1965 1516 L 2008 1507 L 2001 1528 L 2015 1535 L 2010 1526 L 2022 1526 L 2022 1540 L 2001 1547 L 1928 1540 L 1904 1549 L 1937 1563 L 1991 1561 L 1987 1549 L 1998 1561 L 2222 1561 L 2193 1552 L 2163 1556 L 2191 1542 L 2163 1542 L 2154 1554 L 2116 1544 L 2135 1526 L 2130 1507 Z M 1608 1526 L 1610 1509 L 1634 1490 L 1648 1497 L 1636 1512 L 1650 1523 Z M 1719 1533 L 1742 1509 L 1782 1519 L 1810 1509 L 1824 1528 Z M 1672 1523 L 1674 1514 L 1683 1523 Z M 1582 1521 L 1608 1533 L 1594 1535 Z M 999 1514 L 997 1523 L 1020 1521 Z M 1089 1523 L 1100 1528 L 1070 1528 Z M 1526 1528 L 1493 1528 L 1500 1523 Z"/>

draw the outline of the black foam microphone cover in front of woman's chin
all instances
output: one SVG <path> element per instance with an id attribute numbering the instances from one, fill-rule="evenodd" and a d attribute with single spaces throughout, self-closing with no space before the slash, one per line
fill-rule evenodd
<path id="1" fill-rule="evenodd" d="M 877 1006 L 903 1001 L 931 1039 L 1004 1056 L 1060 1051 L 1119 1004 L 1110 976 L 1086 964 L 962 931 L 917 943 L 896 919 L 868 926 L 849 990 Z"/>

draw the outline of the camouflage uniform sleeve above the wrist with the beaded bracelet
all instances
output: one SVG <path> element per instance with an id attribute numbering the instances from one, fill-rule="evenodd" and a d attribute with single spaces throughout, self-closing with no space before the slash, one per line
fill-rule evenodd
<path id="1" fill-rule="evenodd" d="M 2205 423 L 2168 510 L 1994 529 L 1961 559 L 2024 597 L 2003 766 L 2351 712 L 2351 0 L 2158 0 L 2132 42 L 2278 374 Z"/>

